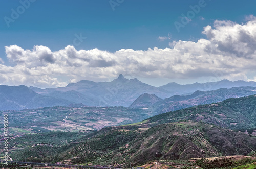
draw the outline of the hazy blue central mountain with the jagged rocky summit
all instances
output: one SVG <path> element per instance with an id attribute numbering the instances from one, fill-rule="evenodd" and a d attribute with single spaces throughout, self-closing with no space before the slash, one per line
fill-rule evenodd
<path id="1" fill-rule="evenodd" d="M 145 84 L 136 78 L 130 80 L 126 79 L 122 74 L 111 82 L 82 80 L 77 83 L 68 84 L 66 87 L 58 87 L 55 89 L 40 89 L 35 87 L 30 87 L 30 89 L 47 96 L 55 95 L 56 98 L 63 98 L 62 92 L 79 92 L 86 96 L 88 100 L 85 101 L 84 99 L 81 99 L 80 103 L 88 106 L 127 107 L 143 93 L 155 94 L 160 98 L 169 96 L 168 93 L 159 90 L 157 87 Z M 55 93 L 52 94 L 53 92 Z M 64 97 L 64 99 L 69 100 L 66 97 Z"/>

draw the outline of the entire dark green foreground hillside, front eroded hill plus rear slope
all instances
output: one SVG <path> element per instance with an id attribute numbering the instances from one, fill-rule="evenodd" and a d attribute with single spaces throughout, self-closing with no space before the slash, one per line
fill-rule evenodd
<path id="1" fill-rule="evenodd" d="M 141 123 L 106 127 L 76 136 L 67 144 L 28 146 L 12 158 L 128 167 L 154 160 L 254 156 L 255 116 L 256 95 L 251 95 L 159 114 Z"/>

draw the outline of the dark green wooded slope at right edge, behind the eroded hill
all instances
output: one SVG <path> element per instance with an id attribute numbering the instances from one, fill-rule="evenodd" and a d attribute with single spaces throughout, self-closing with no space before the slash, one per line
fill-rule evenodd
<path id="1" fill-rule="evenodd" d="M 193 120 L 230 129 L 256 128 L 256 95 L 167 112 L 153 116 L 148 120 L 148 123 L 157 124 Z"/>

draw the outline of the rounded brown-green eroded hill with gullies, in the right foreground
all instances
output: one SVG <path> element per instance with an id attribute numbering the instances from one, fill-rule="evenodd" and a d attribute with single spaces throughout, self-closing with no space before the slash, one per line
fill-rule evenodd
<path id="1" fill-rule="evenodd" d="M 220 155 L 247 155 L 256 149 L 256 139 L 245 133 L 185 122 L 152 127 L 137 137 L 135 142 L 131 149 L 140 149 L 137 149 L 132 159 L 138 164 L 143 163 L 144 159 L 187 160 Z M 138 158 L 140 156 L 143 158 Z"/>

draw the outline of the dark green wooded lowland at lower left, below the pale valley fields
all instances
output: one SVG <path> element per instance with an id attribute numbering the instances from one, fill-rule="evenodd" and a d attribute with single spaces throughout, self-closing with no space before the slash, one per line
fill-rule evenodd
<path id="1" fill-rule="evenodd" d="M 74 144 L 77 140 L 89 135 L 93 132 L 49 132 L 38 134 L 25 134 L 20 137 L 11 137 L 8 139 L 8 148 L 11 151 L 10 156 L 20 161 L 25 161 L 28 158 L 32 162 L 41 162 L 44 157 L 48 157 L 45 162 L 53 161 L 49 155 L 55 152 L 66 150 L 69 144 Z M 4 144 L 1 144 L 1 150 L 4 150 Z M 30 152 L 30 150 L 35 150 Z M 48 152 L 44 156 L 37 156 L 38 152 Z M 3 152 L 3 151 L 1 151 Z M 54 154 L 54 153 L 53 153 Z M 1 153 L 1 157 L 4 154 Z M 54 156 L 51 156 L 54 157 Z M 59 160 L 59 159 L 58 159 Z"/>

